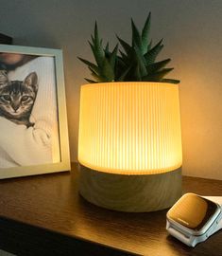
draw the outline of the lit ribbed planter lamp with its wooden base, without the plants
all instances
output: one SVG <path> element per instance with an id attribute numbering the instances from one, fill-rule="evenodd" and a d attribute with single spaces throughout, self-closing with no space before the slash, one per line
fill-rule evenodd
<path id="1" fill-rule="evenodd" d="M 143 212 L 181 196 L 177 84 L 82 85 L 78 136 L 79 192 L 89 202 Z"/>

